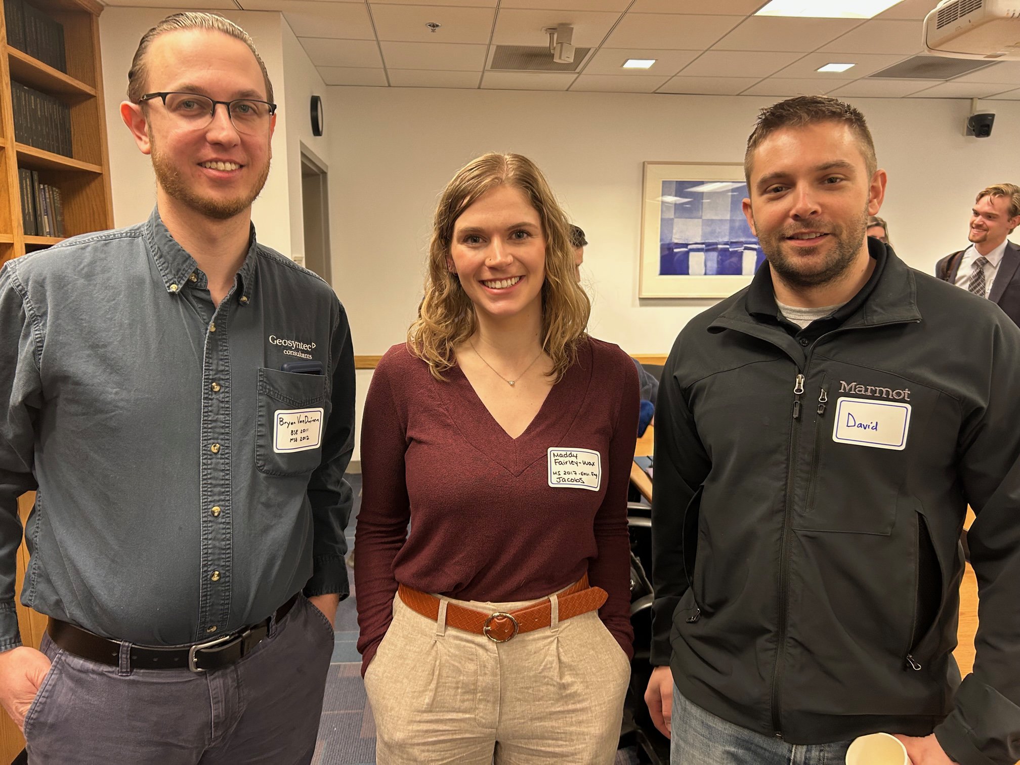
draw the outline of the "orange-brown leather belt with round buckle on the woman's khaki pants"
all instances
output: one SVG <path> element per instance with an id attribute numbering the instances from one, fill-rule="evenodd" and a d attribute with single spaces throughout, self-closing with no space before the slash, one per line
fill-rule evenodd
<path id="1" fill-rule="evenodd" d="M 400 584 L 397 588 L 404 604 L 422 616 L 438 620 L 440 617 L 440 599 L 435 595 L 422 593 Z M 586 614 L 602 608 L 609 595 L 602 588 L 590 588 L 588 574 L 580 581 L 556 596 L 559 603 L 559 620 Z M 447 626 L 463 629 L 465 632 L 483 634 L 494 643 L 506 643 L 520 632 L 530 632 L 534 629 L 548 627 L 552 623 L 553 604 L 548 598 L 533 606 L 527 606 L 506 613 L 497 611 L 486 613 L 473 608 L 447 603 Z"/>

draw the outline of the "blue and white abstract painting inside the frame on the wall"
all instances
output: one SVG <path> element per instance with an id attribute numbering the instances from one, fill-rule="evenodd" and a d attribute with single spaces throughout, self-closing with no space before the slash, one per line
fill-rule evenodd
<path id="1" fill-rule="evenodd" d="M 741 209 L 747 184 L 663 181 L 659 275 L 750 276 L 765 256 Z"/>

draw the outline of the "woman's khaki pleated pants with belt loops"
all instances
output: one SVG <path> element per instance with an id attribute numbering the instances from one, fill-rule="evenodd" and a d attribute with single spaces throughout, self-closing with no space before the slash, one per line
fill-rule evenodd
<path id="1" fill-rule="evenodd" d="M 542 599 L 545 600 L 545 599 Z M 506 643 L 446 626 L 394 600 L 365 672 L 378 765 L 609 765 L 630 662 L 598 611 Z M 443 599 L 492 613 L 541 601 Z"/>

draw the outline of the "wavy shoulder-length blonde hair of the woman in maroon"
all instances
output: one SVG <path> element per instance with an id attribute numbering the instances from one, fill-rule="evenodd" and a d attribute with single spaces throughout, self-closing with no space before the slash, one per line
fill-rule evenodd
<path id="1" fill-rule="evenodd" d="M 553 360 L 549 375 L 559 381 L 576 361 L 588 337 L 592 304 L 574 276 L 570 223 L 536 164 L 520 154 L 483 154 L 457 170 L 440 195 L 428 245 L 428 268 L 418 318 L 407 330 L 407 348 L 428 364 L 437 379 L 456 363 L 454 349 L 477 328 L 477 317 L 460 279 L 447 267 L 457 218 L 499 186 L 520 190 L 539 213 L 546 237 L 546 279 L 542 285 L 542 349 Z"/>

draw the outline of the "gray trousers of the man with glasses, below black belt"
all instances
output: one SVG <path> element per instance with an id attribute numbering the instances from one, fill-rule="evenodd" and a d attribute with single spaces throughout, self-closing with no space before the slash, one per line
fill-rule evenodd
<path id="1" fill-rule="evenodd" d="M 24 717 L 29 762 L 310 763 L 333 646 L 333 627 L 303 596 L 250 654 L 214 672 L 97 664 L 46 635 L 53 666 Z"/>

